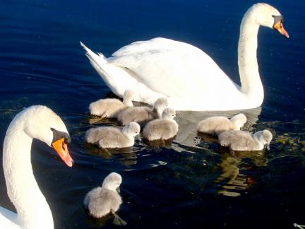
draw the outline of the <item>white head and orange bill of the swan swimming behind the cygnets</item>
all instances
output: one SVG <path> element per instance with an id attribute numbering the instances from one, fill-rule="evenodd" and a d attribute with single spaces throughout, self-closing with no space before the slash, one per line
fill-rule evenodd
<path id="1" fill-rule="evenodd" d="M 258 23 L 258 25 L 263 25 L 277 30 L 280 34 L 289 38 L 287 31 L 282 25 L 284 18 L 273 6 L 264 3 L 254 4 L 249 8 L 245 15 L 246 14 L 255 17 L 253 19 Z"/>

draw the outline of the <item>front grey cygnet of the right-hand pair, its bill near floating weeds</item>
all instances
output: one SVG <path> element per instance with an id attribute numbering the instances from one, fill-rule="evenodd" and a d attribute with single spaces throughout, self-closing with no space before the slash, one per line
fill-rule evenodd
<path id="1" fill-rule="evenodd" d="M 253 135 L 248 131 L 225 131 L 218 135 L 221 146 L 228 146 L 233 151 L 261 151 L 269 143 L 273 135 L 267 129 Z"/>

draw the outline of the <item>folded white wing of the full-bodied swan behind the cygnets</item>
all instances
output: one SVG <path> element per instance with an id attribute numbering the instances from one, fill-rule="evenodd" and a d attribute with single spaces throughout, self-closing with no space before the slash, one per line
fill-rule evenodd
<path id="1" fill-rule="evenodd" d="M 200 49 L 165 38 L 134 42 L 107 60 L 130 69 L 138 81 L 169 97 L 190 98 L 192 94 L 198 95 L 198 91 L 215 95 L 215 90 L 224 93 L 236 87 Z"/>

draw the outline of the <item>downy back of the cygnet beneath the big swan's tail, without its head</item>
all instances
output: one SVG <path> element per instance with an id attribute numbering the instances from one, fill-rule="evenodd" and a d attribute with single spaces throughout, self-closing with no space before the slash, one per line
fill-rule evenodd
<path id="1" fill-rule="evenodd" d="M 121 100 L 114 98 L 107 98 L 91 102 L 89 105 L 90 114 L 98 115 L 101 117 L 114 118 L 117 117 L 119 112 L 126 109 Z"/>

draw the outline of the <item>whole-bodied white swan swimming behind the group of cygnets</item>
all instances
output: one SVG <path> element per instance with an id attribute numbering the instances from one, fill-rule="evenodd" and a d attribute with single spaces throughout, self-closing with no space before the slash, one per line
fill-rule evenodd
<path id="1" fill-rule="evenodd" d="M 255 4 L 241 21 L 238 64 L 241 86 L 235 84 L 208 54 L 197 47 L 165 38 L 134 42 L 105 58 L 86 50 L 92 66 L 110 90 L 122 97 L 126 88 L 138 92 L 135 101 L 152 105 L 167 96 L 174 110 L 240 110 L 259 107 L 263 85 L 256 59 L 260 25 L 285 37 L 282 16 L 268 4 Z"/>

